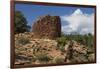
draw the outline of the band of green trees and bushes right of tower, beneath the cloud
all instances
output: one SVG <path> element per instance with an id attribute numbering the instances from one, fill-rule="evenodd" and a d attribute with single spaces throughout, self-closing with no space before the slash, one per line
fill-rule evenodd
<path id="1" fill-rule="evenodd" d="M 56 41 L 58 42 L 58 48 L 63 52 L 64 51 L 64 46 L 66 44 L 67 41 L 71 41 L 71 40 L 75 40 L 80 44 L 83 44 L 87 47 L 89 47 L 90 49 L 93 49 L 93 35 L 88 33 L 85 35 L 81 35 L 81 34 L 63 34 L 61 35 L 61 37 L 57 38 Z"/>

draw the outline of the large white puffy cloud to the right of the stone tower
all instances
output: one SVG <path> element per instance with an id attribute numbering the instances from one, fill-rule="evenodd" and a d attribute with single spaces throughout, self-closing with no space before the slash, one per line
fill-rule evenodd
<path id="1" fill-rule="evenodd" d="M 61 20 L 68 23 L 68 25 L 62 26 L 62 31 L 65 34 L 70 34 L 72 32 L 94 34 L 94 13 L 86 14 L 80 9 L 77 9 L 71 15 L 61 16 Z"/>

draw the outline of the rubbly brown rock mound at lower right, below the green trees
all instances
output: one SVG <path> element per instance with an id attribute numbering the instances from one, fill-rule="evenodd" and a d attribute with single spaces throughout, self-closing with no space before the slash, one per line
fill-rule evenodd
<path id="1" fill-rule="evenodd" d="M 95 60 L 95 53 L 90 48 L 74 40 L 65 45 L 65 50 L 65 62 L 67 63 L 93 62 Z"/>

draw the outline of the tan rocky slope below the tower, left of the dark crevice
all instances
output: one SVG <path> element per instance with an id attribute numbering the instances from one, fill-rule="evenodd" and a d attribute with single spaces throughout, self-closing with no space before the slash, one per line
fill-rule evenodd
<path id="1" fill-rule="evenodd" d="M 62 52 L 57 49 L 57 42 L 55 40 L 30 39 L 29 35 L 31 36 L 33 33 L 15 35 L 15 64 L 56 63 L 55 60 L 58 57 L 61 57 L 61 59 L 64 60 L 64 55 L 62 55 Z M 28 42 L 26 42 L 27 40 Z"/>

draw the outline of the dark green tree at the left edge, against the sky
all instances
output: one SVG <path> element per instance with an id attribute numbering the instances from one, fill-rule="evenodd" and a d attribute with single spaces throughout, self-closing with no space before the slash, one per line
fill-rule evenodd
<path id="1" fill-rule="evenodd" d="M 30 26 L 27 25 L 26 18 L 20 11 L 15 11 L 14 26 L 15 33 L 23 33 L 30 30 Z"/>

